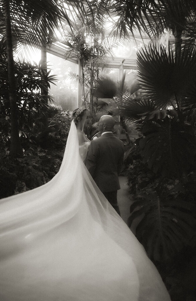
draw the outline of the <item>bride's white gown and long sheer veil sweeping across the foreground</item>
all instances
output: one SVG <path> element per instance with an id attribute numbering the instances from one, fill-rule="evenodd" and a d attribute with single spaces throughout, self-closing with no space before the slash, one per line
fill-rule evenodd
<path id="1" fill-rule="evenodd" d="M 0 200 L 1 301 L 169 301 L 154 264 L 87 171 L 72 122 L 47 184 Z"/>

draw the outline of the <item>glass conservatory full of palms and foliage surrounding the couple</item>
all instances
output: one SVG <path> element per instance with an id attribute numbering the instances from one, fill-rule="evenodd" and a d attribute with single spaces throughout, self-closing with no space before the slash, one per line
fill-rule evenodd
<path id="1" fill-rule="evenodd" d="M 125 222 L 171 300 L 196 300 L 196 2 L 39 2 L 0 4 L 0 198 L 58 173 L 74 109 L 89 140 L 113 116 Z"/>

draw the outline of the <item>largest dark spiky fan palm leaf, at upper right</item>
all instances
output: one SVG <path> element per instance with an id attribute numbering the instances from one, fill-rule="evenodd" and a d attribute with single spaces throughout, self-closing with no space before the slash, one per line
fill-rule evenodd
<path id="1" fill-rule="evenodd" d="M 183 49 L 175 57 L 163 45 L 149 45 L 148 50 L 137 54 L 139 82 L 145 95 L 155 101 L 162 109 L 168 105 L 182 106 L 179 99 L 190 103 L 195 101 L 196 93 L 196 51 Z M 175 100 L 175 103 L 173 102 Z"/>

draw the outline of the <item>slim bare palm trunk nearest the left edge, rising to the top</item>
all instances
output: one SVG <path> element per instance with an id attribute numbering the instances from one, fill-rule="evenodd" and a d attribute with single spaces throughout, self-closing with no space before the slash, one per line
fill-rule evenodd
<path id="1" fill-rule="evenodd" d="M 17 158 L 23 156 L 23 150 L 20 145 L 19 128 L 18 128 L 18 106 L 16 94 L 16 81 L 14 72 L 14 57 L 11 34 L 11 17 L 10 17 L 10 1 L 5 3 L 5 27 L 6 27 L 6 43 L 8 53 L 8 81 L 9 81 L 9 102 L 10 102 L 10 120 L 11 120 L 11 144 L 10 156 Z"/>

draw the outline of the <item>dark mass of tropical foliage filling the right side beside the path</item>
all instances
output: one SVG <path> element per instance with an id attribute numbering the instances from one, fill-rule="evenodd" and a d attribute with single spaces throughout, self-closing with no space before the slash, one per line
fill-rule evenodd
<path id="1" fill-rule="evenodd" d="M 173 5 L 177 2 L 182 4 L 183 1 L 173 2 Z M 193 5 L 193 2 L 189 4 Z M 194 14 L 191 18 L 194 19 Z M 188 19 L 190 21 L 190 17 L 185 20 L 188 22 Z M 186 27 L 186 41 L 180 41 L 182 24 L 179 25 L 181 30 L 177 28 L 175 18 L 170 24 L 167 19 L 166 24 L 166 28 L 175 25 L 172 28 L 175 47 L 151 44 L 138 51 L 140 89 L 118 96 L 113 112 L 137 124 L 143 135 L 125 156 L 139 157 L 129 165 L 128 171 L 130 191 L 135 194 L 129 226 L 137 220 L 136 236 L 162 277 L 173 277 L 173 281 L 164 278 L 173 300 L 185 300 L 179 287 L 188 288 L 182 284 L 183 275 L 178 277 L 174 271 L 179 271 L 178 265 L 182 267 L 180 260 L 194 260 L 191 250 L 196 245 L 196 56 L 191 30 Z M 178 35 L 176 30 L 179 30 Z M 190 39 L 187 39 L 188 35 Z M 191 254 L 189 259 L 184 252 Z M 185 272 L 183 267 L 182 270 L 186 276 L 191 273 Z"/>

